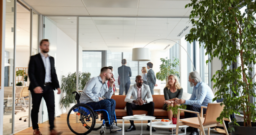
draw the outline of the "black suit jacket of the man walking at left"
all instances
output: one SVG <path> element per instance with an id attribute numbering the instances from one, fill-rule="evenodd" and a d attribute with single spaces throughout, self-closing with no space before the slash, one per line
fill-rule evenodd
<path id="1" fill-rule="evenodd" d="M 56 88 L 60 88 L 60 84 L 54 67 L 54 58 L 52 56 L 50 56 L 49 58 L 51 63 L 52 87 L 55 90 Z M 40 54 L 35 54 L 30 57 L 29 78 L 29 90 L 33 91 L 33 89 L 37 86 L 40 86 L 44 90 L 45 67 Z"/>

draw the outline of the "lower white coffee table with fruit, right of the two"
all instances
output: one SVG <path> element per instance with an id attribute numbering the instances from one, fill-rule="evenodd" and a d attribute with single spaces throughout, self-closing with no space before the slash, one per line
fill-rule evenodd
<path id="1" fill-rule="evenodd" d="M 150 124 L 148 123 L 148 125 L 150 125 Z M 173 135 L 173 128 L 176 128 L 176 124 L 171 123 L 169 125 L 162 125 L 160 121 L 156 121 L 156 122 L 152 122 L 152 127 L 160 128 L 160 129 L 172 129 L 172 135 Z M 186 125 L 179 126 L 179 128 L 185 128 L 185 133 L 178 134 L 178 135 L 186 135 L 187 127 L 189 127 L 189 126 L 186 126 Z M 176 130 L 179 130 L 179 129 L 176 129 Z M 152 135 L 163 135 L 163 134 L 152 134 Z M 174 135 L 176 135 L 176 132 Z"/>

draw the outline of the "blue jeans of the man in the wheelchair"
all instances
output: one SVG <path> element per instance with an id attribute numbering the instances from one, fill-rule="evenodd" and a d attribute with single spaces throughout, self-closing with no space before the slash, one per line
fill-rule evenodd
<path id="1" fill-rule="evenodd" d="M 114 116 L 115 116 L 115 108 L 116 108 L 116 101 L 113 99 L 104 99 L 100 100 L 99 102 L 89 102 L 86 103 L 87 105 L 90 105 L 94 110 L 96 109 L 104 109 L 108 112 L 110 124 L 114 122 Z M 104 120 L 107 121 L 107 113 L 103 111 L 103 117 Z M 106 126 L 109 127 L 109 123 L 106 122 Z"/>

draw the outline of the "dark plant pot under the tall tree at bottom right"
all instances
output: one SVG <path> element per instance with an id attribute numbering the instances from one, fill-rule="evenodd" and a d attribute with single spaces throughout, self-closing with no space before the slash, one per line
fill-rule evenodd
<path id="1" fill-rule="evenodd" d="M 252 127 L 244 127 L 244 122 L 237 122 L 240 126 L 233 125 L 233 122 L 229 122 L 229 126 L 233 126 L 235 131 L 231 132 L 231 135 L 255 135 L 256 122 L 252 122 Z"/>

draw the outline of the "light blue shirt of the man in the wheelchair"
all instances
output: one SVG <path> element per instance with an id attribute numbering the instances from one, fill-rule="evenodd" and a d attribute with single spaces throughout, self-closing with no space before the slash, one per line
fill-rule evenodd
<path id="1" fill-rule="evenodd" d="M 106 99 L 110 99 L 113 95 L 113 88 L 107 87 L 107 82 L 102 83 L 100 76 L 91 78 L 85 85 L 84 90 L 80 96 L 80 103 L 98 102 L 98 98 L 104 96 Z"/>

